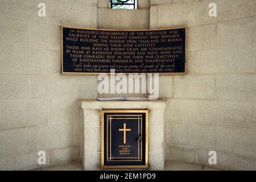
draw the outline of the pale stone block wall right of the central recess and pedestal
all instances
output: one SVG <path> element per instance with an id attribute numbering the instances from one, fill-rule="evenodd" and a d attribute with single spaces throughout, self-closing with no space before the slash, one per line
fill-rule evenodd
<path id="1" fill-rule="evenodd" d="M 167 160 L 209 166 L 213 150 L 210 167 L 256 169 L 255 9 L 254 0 L 151 0 L 151 29 L 188 27 L 188 74 L 160 86 Z"/>

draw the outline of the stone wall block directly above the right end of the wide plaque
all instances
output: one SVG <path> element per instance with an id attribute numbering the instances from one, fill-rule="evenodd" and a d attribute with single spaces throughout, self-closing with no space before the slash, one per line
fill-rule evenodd
<path id="1" fill-rule="evenodd" d="M 191 26 L 198 23 L 198 2 L 158 6 L 158 28 Z"/>

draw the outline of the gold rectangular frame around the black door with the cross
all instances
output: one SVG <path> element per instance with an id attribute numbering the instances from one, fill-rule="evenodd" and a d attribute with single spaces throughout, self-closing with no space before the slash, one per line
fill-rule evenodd
<path id="1" fill-rule="evenodd" d="M 104 165 L 104 114 L 105 113 L 144 113 L 145 114 L 145 165 L 142 166 L 105 166 Z M 118 110 L 118 109 L 102 109 L 101 110 L 101 168 L 102 169 L 129 169 L 129 168 L 148 168 L 148 109 L 139 110 Z"/>

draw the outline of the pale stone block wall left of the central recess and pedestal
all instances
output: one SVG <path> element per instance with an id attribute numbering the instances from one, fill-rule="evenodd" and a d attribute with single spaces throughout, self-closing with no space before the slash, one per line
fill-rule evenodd
<path id="1" fill-rule="evenodd" d="M 80 160 L 77 99 L 97 77 L 60 74 L 60 24 L 97 28 L 97 0 L 1 0 L 0 24 L 0 169 L 42 167 L 40 150 L 47 166 Z"/>

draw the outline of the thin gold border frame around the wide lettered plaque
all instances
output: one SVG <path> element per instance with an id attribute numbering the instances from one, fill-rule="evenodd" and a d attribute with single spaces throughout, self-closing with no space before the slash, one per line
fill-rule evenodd
<path id="1" fill-rule="evenodd" d="M 113 74 L 113 73 L 76 73 L 76 72 L 64 72 L 63 71 L 63 28 L 77 28 L 77 29 L 82 29 L 82 30 L 98 30 L 98 31 L 159 31 L 159 30 L 175 30 L 175 29 L 180 29 L 180 28 L 185 28 L 185 71 L 184 73 L 144 73 L 144 74 L 159 74 L 159 75 L 187 75 L 188 73 L 188 69 L 187 69 L 187 30 L 188 28 L 187 27 L 176 27 L 176 28 L 159 28 L 159 29 L 141 29 L 141 30 L 137 30 L 137 29 L 134 29 L 134 30 L 127 30 L 127 29 L 117 29 L 117 30 L 114 30 L 114 29 L 108 29 L 108 28 L 82 28 L 82 27 L 73 27 L 73 26 L 64 26 L 64 25 L 61 25 L 60 26 L 61 28 L 61 74 L 63 75 L 102 75 L 102 74 L 106 74 L 106 75 L 110 75 L 110 74 Z M 135 73 L 114 73 L 114 75 L 117 75 L 117 74 L 125 74 L 125 75 L 129 75 L 129 74 L 135 74 Z M 138 73 L 138 74 L 141 74 L 141 73 Z"/>

